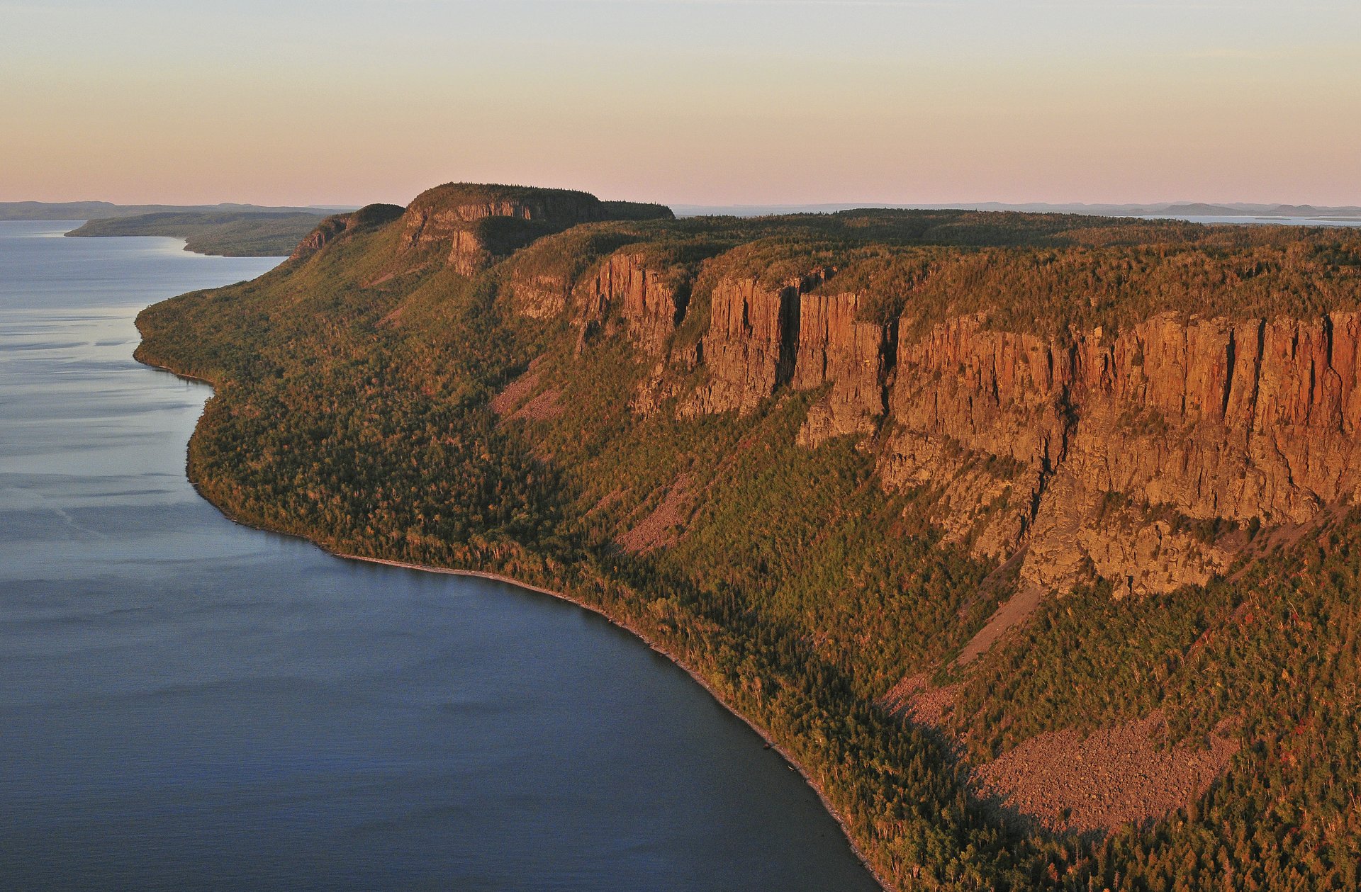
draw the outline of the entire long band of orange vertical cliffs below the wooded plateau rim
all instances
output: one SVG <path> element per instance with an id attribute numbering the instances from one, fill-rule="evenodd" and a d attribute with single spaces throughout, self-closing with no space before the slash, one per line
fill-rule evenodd
<path id="1" fill-rule="evenodd" d="M 872 290 L 838 286 L 832 265 L 773 280 L 728 257 L 702 268 L 708 314 L 693 345 L 674 336 L 694 283 L 640 249 L 577 279 L 513 283 L 523 314 L 572 317 L 578 349 L 615 325 L 657 360 L 634 411 L 675 397 L 678 417 L 750 415 L 781 389 L 821 389 L 800 445 L 878 434 L 885 488 L 924 490 L 947 538 L 980 558 L 1023 549 L 1021 579 L 1045 590 L 1097 577 L 1126 593 L 1204 583 L 1247 528 L 1305 524 L 1361 485 L 1354 313 L 1164 311 L 1060 339 L 985 313 L 923 326 L 906 307 L 871 321 Z"/>

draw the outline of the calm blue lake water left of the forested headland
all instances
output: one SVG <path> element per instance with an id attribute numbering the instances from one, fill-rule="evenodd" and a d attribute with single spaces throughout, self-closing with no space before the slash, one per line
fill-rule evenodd
<path id="1" fill-rule="evenodd" d="M 0 223 L 0 887 L 876 888 L 604 620 L 223 519 L 132 320 L 274 261 L 69 227 Z"/>

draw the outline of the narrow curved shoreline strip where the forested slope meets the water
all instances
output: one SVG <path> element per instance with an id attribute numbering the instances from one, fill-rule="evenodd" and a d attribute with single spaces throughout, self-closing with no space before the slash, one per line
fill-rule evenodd
<path id="1" fill-rule="evenodd" d="M 139 334 L 142 333 L 140 328 L 137 329 L 137 333 Z M 140 364 L 143 364 L 143 366 L 146 366 L 148 368 L 154 368 L 154 370 L 158 370 L 158 371 L 166 371 L 166 373 L 170 373 L 170 374 L 176 375 L 177 378 L 182 378 L 182 379 L 191 381 L 193 383 L 207 385 L 210 389 L 216 390 L 218 385 L 215 382 L 207 379 L 207 378 L 200 378 L 197 375 L 185 374 L 185 373 L 177 371 L 177 370 L 169 367 L 169 366 L 162 366 L 159 363 L 146 362 L 143 359 L 139 359 L 135 354 L 133 354 L 133 359 L 137 363 L 140 363 Z M 211 396 L 210 396 L 210 398 L 211 398 Z M 207 401 L 204 401 L 204 402 L 207 402 Z M 203 420 L 203 413 L 200 412 L 199 413 L 199 420 L 195 422 L 195 426 L 193 426 L 193 434 L 199 432 L 199 424 L 201 423 L 201 420 Z M 193 436 L 193 434 L 191 434 L 191 436 Z M 866 869 L 866 872 L 871 877 L 874 877 L 874 881 L 882 889 L 885 889 L 885 892 L 887 892 L 887 891 L 890 891 L 890 889 L 894 888 L 894 887 L 891 887 L 879 874 L 878 870 L 875 870 L 874 865 L 866 857 L 864 851 L 860 848 L 860 844 L 856 842 L 855 836 L 852 835 L 851 827 L 847 824 L 845 817 L 832 804 L 832 801 L 827 798 L 826 791 L 822 789 L 822 785 L 807 771 L 807 768 L 804 768 L 803 764 L 799 763 L 799 760 L 795 759 L 789 753 L 788 749 L 785 749 L 784 747 L 781 747 L 770 736 L 770 732 L 768 729 L 762 727 L 754 719 L 751 719 L 750 717 L 744 715 L 740 710 L 738 710 L 734 704 L 731 704 L 719 691 L 716 691 L 713 688 L 713 685 L 710 685 L 708 683 L 708 680 L 704 679 L 704 676 L 701 676 L 693 666 L 690 666 L 690 664 L 687 664 L 685 659 L 682 659 L 676 654 L 671 653 L 666 647 L 660 646 L 657 642 L 655 642 L 653 639 L 651 639 L 644 632 L 638 631 L 630 623 L 626 623 L 626 621 L 623 621 L 623 620 L 621 620 L 621 619 L 618 619 L 615 616 L 611 616 L 610 613 L 607 613 L 600 606 L 596 606 L 595 604 L 588 604 L 587 601 L 583 601 L 580 598 L 574 598 L 570 594 L 565 594 L 562 591 L 555 591 L 553 589 L 546 589 L 543 586 L 531 585 L 528 582 L 521 582 L 520 579 L 516 579 L 513 577 L 506 577 L 504 574 L 490 572 L 490 571 L 486 571 L 486 570 L 467 570 L 467 568 L 453 568 L 453 567 L 437 567 L 437 566 L 433 566 L 433 564 L 418 564 L 418 563 L 411 563 L 411 562 L 406 562 L 406 560 L 395 560 L 395 559 L 389 559 L 389 558 L 365 558 L 362 555 L 351 555 L 351 553 L 347 553 L 347 552 L 336 551 L 335 548 L 331 548 L 328 544 L 325 544 L 323 541 L 318 541 L 318 540 L 316 540 L 316 538 L 313 538 L 310 536 L 305 536 L 302 533 L 286 533 L 283 530 L 276 530 L 276 529 L 269 529 L 267 526 L 257 526 L 255 524 L 248 524 L 248 522 L 245 522 L 245 521 L 242 521 L 242 519 L 240 519 L 237 517 L 233 517 L 226 509 L 223 509 L 220 504 L 218 504 L 216 502 L 214 502 L 212 499 L 210 499 L 207 495 L 204 495 L 203 488 L 199 485 L 199 481 L 195 480 L 193 475 L 191 473 L 191 468 L 189 468 L 189 462 L 188 462 L 188 443 L 185 443 L 185 450 L 186 450 L 185 451 L 185 479 L 189 481 L 189 485 L 193 487 L 193 491 L 199 495 L 200 499 L 203 499 L 204 502 L 207 502 L 208 504 L 211 504 L 214 509 L 216 509 L 216 511 L 222 517 L 227 518 L 229 521 L 231 521 L 237 526 L 245 526 L 248 529 L 259 530 L 259 532 L 263 532 L 263 533 L 272 533 L 275 536 L 289 536 L 291 538 L 299 538 L 302 541 L 306 541 L 306 543 L 309 543 L 309 544 L 320 548 L 323 552 L 331 555 L 332 558 L 339 558 L 342 560 L 354 560 L 354 562 L 359 562 L 359 563 L 380 564 L 380 566 L 384 566 L 384 567 L 397 567 L 400 570 L 414 570 L 414 571 L 418 571 L 418 572 L 431 572 L 431 574 L 440 574 L 440 575 L 446 575 L 446 577 L 474 577 L 474 578 L 479 578 L 479 579 L 489 579 L 489 581 L 493 581 L 493 582 L 502 582 L 502 583 L 506 583 L 506 585 L 516 586 L 517 589 L 523 589 L 525 591 L 534 591 L 535 594 L 544 594 L 544 596 L 548 596 L 551 598 L 557 598 L 559 601 L 566 601 L 569 604 L 574 604 L 576 606 L 578 606 L 578 608 L 581 608 L 584 611 L 589 611 L 591 613 L 595 613 L 596 616 L 604 619 L 611 625 L 615 625 L 618 628 L 625 630 L 626 632 L 629 632 L 630 635 L 633 635 L 634 638 L 637 638 L 638 640 L 641 640 L 644 645 L 646 645 L 649 650 L 653 650 L 655 653 L 659 653 L 663 657 L 666 657 L 667 659 L 670 659 L 672 665 L 675 665 L 676 668 L 679 668 L 682 672 L 685 672 L 687 676 L 690 676 L 690 679 L 694 680 L 695 684 L 698 684 L 701 688 L 704 688 L 709 693 L 709 696 L 712 696 L 715 699 L 715 702 L 719 703 L 719 706 L 721 706 L 728 713 L 731 713 L 738 719 L 740 719 L 747 727 L 750 727 L 753 732 L 755 732 L 757 737 L 759 737 L 761 740 L 764 740 L 770 749 L 773 749 L 774 752 L 780 753 L 780 757 L 785 760 L 785 763 L 789 766 L 789 768 L 793 770 L 793 771 L 796 771 L 799 774 L 799 776 L 803 778 L 804 783 L 807 783 L 808 787 L 814 791 L 814 794 L 817 794 L 818 801 L 822 802 L 822 808 L 827 812 L 829 816 L 832 816 L 832 820 L 836 821 L 837 827 L 841 829 L 842 838 L 845 838 L 845 840 L 847 840 L 847 844 L 851 846 L 852 854 L 856 857 L 856 859 L 860 862 L 860 865 Z"/>

